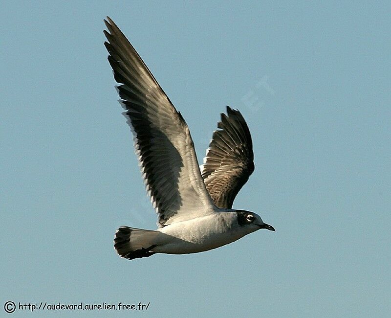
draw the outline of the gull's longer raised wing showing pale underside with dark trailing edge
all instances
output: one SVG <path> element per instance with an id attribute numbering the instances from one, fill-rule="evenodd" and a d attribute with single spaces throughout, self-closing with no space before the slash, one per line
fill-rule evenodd
<path id="1" fill-rule="evenodd" d="M 125 35 L 108 17 L 105 46 L 124 115 L 132 128 L 158 226 L 214 211 L 189 128 Z"/>

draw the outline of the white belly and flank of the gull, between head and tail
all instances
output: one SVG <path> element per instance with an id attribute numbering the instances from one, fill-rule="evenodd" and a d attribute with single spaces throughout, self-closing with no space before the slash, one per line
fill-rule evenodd
<path id="1" fill-rule="evenodd" d="M 186 254 L 216 249 L 247 234 L 235 226 L 235 221 L 234 214 L 214 213 L 173 223 L 158 229 L 166 235 L 152 250 L 167 254 Z"/>

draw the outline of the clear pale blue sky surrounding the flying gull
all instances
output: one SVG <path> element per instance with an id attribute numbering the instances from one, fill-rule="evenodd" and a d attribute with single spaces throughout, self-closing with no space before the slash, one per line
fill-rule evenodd
<path id="1" fill-rule="evenodd" d="M 148 311 L 55 314 L 390 317 L 390 13 L 388 1 L 3 3 L 1 313 L 8 300 L 141 301 Z M 116 228 L 153 229 L 156 216 L 106 15 L 183 114 L 198 161 L 225 105 L 241 111 L 256 169 L 234 207 L 276 232 L 117 256 Z"/>

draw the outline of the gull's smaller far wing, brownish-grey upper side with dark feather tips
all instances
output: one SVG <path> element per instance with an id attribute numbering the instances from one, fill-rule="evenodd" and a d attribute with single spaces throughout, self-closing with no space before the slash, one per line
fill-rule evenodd
<path id="1" fill-rule="evenodd" d="M 248 126 L 238 110 L 227 106 L 213 133 L 202 167 L 202 178 L 214 204 L 232 208 L 235 197 L 254 171 Z"/>

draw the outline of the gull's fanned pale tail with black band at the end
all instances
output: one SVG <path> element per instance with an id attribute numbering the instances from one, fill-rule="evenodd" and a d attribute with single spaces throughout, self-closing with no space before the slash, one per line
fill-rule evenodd
<path id="1" fill-rule="evenodd" d="M 114 249 L 121 257 L 134 259 L 149 257 L 156 245 L 153 244 L 158 232 L 154 230 L 119 227 L 115 232 Z"/>

